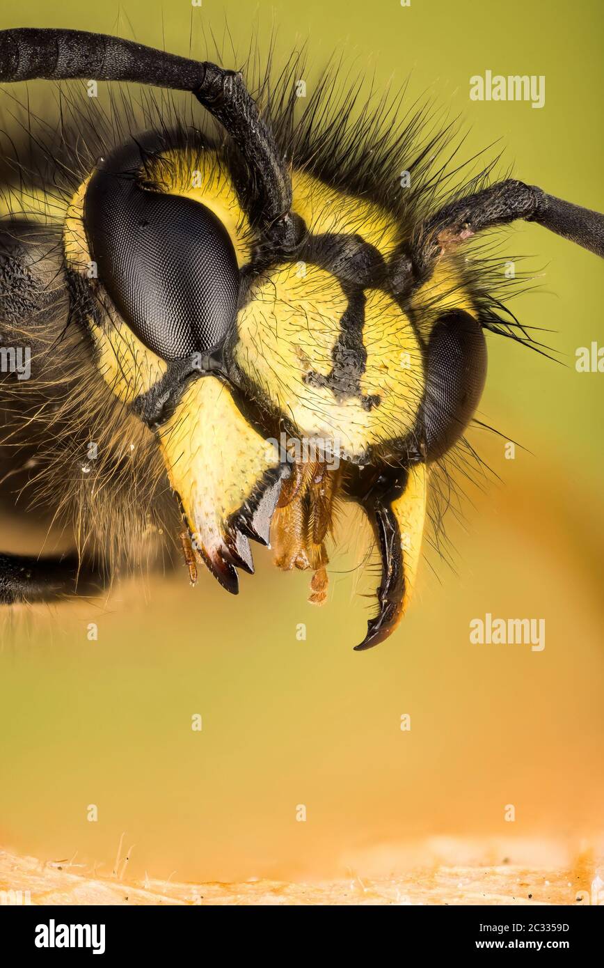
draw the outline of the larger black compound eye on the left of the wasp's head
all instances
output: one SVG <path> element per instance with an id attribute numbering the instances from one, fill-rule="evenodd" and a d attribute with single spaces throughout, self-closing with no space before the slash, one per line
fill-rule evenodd
<path id="1" fill-rule="evenodd" d="M 166 361 L 222 343 L 239 291 L 227 229 L 191 198 L 98 171 L 84 224 L 99 280 L 142 343 Z"/>

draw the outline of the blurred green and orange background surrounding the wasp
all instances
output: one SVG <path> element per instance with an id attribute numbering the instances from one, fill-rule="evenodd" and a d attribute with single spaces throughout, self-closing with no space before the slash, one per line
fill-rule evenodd
<path id="1" fill-rule="evenodd" d="M 253 36 L 265 52 L 274 34 L 279 54 L 308 42 L 310 85 L 344 50 L 378 89 L 410 75 L 410 97 L 429 90 L 462 112 L 468 156 L 500 139 L 501 170 L 604 210 L 602 18 L 595 0 L 4 0 L 0 26 L 118 32 L 183 54 L 193 37 L 200 59 L 212 35 L 228 50 L 226 30 L 241 60 Z M 470 102 L 469 77 L 486 70 L 545 75 L 545 107 Z M 525 837 L 601 830 L 604 375 L 577 374 L 574 358 L 604 344 L 604 279 L 596 257 L 544 229 L 519 223 L 505 238 L 538 274 L 512 308 L 553 331 L 565 365 L 491 339 L 478 416 L 504 438 L 472 432 L 493 473 L 468 485 L 462 520 L 449 516 L 457 573 L 424 566 L 402 627 L 367 653 L 351 646 L 375 574 L 359 567 L 368 533 L 349 520 L 321 610 L 305 575 L 279 574 L 258 550 L 236 600 L 207 575 L 191 590 L 182 571 L 92 605 L 5 614 L 0 843 L 52 860 L 77 851 L 108 872 L 126 832 L 139 873 L 227 880 L 321 876 L 437 835 L 514 834 L 522 852 Z M 508 436 L 527 448 L 514 461 Z M 3 550 L 40 547 L 33 526 L 0 528 Z M 470 646 L 468 621 L 485 612 L 545 618 L 546 649 Z"/>

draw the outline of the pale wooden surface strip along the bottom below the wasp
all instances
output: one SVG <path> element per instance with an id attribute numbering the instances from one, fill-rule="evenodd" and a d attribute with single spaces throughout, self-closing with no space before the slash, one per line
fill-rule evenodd
<path id="1" fill-rule="evenodd" d="M 460 842 L 449 855 L 467 854 Z M 486 852 L 488 853 L 488 851 Z M 514 905 L 589 903 L 597 864 L 585 847 L 563 866 L 529 866 L 507 859 L 497 864 L 432 862 L 406 874 L 349 878 L 320 883 L 269 880 L 239 884 L 183 884 L 92 875 L 69 862 L 43 862 L 0 851 L 0 892 L 30 892 L 31 903 L 61 904 L 218 904 L 218 905 Z M 598 867 L 599 869 L 599 867 Z M 76 872 L 75 872 L 76 871 Z M 7 895 L 0 895 L 4 903 Z"/>

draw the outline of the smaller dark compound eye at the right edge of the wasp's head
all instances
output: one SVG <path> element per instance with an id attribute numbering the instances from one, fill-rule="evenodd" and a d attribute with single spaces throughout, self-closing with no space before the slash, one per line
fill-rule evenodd
<path id="1" fill-rule="evenodd" d="M 436 461 L 466 430 L 487 377 L 487 344 L 479 322 L 462 310 L 439 317 L 430 335 L 420 434 Z"/>

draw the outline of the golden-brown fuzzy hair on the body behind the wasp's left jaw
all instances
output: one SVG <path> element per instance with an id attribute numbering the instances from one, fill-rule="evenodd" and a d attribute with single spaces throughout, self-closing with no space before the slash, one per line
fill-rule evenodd
<path id="1" fill-rule="evenodd" d="M 33 353 L 41 376 L 2 384 L 0 443 L 16 471 L 15 501 L 52 508 L 51 524 L 73 527 L 80 558 L 99 560 L 110 579 L 120 565 L 138 571 L 158 532 L 171 536 L 178 517 L 153 436 L 107 392 L 83 334 L 51 302 Z"/>

